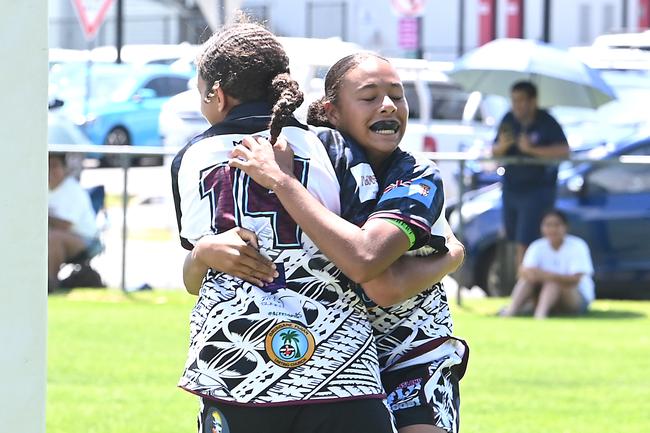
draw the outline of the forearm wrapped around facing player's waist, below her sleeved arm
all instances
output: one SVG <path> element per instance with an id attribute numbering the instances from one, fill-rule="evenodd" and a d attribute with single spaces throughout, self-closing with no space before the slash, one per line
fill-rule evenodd
<path id="1" fill-rule="evenodd" d="M 362 284 L 366 295 L 381 307 L 398 304 L 460 268 L 465 260 L 465 248 L 448 225 L 446 229 L 447 253 L 400 257 L 377 278 Z"/>

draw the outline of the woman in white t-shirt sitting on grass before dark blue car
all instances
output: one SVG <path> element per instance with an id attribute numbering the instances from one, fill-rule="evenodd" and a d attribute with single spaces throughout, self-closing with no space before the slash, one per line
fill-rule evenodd
<path id="1" fill-rule="evenodd" d="M 536 319 L 551 313 L 582 314 L 595 298 L 594 272 L 587 243 L 567 234 L 567 218 L 551 210 L 542 219 L 541 239 L 524 255 L 510 305 L 502 316 L 522 314 L 534 306 Z"/>

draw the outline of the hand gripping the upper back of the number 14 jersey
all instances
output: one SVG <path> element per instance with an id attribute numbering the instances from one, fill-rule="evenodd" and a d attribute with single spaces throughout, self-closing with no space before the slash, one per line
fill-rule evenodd
<path id="1" fill-rule="evenodd" d="M 274 189 L 293 171 L 293 151 L 282 139 L 273 146 L 263 137 L 246 136 L 230 156 L 229 166 L 239 168 L 268 189 Z"/>

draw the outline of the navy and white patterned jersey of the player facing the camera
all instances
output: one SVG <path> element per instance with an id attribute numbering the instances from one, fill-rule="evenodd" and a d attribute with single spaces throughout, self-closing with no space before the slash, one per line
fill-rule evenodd
<path id="1" fill-rule="evenodd" d="M 412 250 L 418 254 L 448 251 L 442 181 L 435 163 L 397 149 L 386 162 L 384 176 L 377 179 L 354 140 L 325 128 L 317 132 L 339 178 L 343 218 L 357 225 L 369 218 L 399 219 L 415 229 L 417 240 Z M 368 308 L 382 370 L 431 362 L 439 354 L 432 349 L 451 338 L 453 324 L 441 283 L 388 308 L 377 306 L 356 287 Z M 460 347 L 464 342 L 448 344 L 456 346 L 465 358 L 465 348 Z"/>

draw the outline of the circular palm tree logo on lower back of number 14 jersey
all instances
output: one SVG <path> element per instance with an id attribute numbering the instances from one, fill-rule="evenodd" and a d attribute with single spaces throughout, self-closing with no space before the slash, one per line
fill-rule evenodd
<path id="1" fill-rule="evenodd" d="M 309 361 L 314 354 L 314 337 L 295 323 L 279 323 L 266 336 L 266 353 L 274 364 L 293 368 Z"/>

